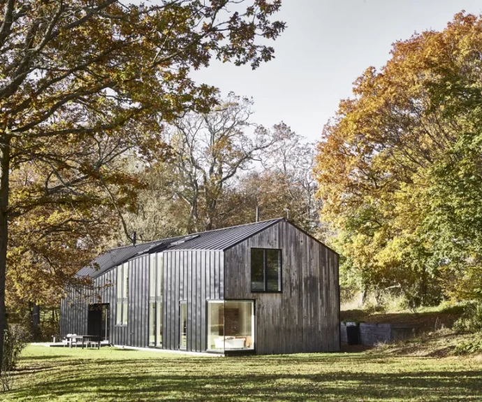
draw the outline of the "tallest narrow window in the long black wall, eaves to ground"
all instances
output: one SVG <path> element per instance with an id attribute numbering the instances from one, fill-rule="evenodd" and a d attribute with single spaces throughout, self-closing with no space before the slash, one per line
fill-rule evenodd
<path id="1" fill-rule="evenodd" d="M 149 256 L 149 346 L 162 346 L 162 254 Z"/>

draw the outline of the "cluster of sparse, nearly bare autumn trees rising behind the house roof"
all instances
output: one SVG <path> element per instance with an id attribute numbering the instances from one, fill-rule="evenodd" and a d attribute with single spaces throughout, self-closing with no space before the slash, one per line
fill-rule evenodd
<path id="1" fill-rule="evenodd" d="M 209 113 L 187 113 L 165 131 L 170 157 L 138 166 L 148 183 L 126 218 L 143 241 L 286 216 L 319 228 L 314 145 L 283 122 L 256 124 L 235 94 Z"/>

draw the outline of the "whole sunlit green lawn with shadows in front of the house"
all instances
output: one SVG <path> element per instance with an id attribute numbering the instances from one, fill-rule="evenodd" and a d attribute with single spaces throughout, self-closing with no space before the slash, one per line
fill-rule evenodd
<path id="1" fill-rule="evenodd" d="M 482 401 L 482 358 L 377 350 L 221 358 L 29 346 L 13 391 L 0 400 Z"/>

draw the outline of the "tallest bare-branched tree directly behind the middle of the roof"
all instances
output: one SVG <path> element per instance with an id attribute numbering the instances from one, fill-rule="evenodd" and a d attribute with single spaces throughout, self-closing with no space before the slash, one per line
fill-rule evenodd
<path id="1" fill-rule="evenodd" d="M 166 142 L 173 148 L 173 192 L 189 206 L 189 231 L 213 228 L 219 199 L 240 171 L 263 160 L 291 133 L 251 121 L 253 101 L 229 94 L 210 113 L 188 113 Z"/>

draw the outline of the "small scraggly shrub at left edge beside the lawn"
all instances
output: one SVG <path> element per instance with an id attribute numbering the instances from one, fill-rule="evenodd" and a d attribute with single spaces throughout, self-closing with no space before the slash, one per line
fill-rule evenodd
<path id="1" fill-rule="evenodd" d="M 5 331 L 3 340 L 3 361 L 1 361 L 0 381 L 3 392 L 13 387 L 13 371 L 20 358 L 20 352 L 27 345 L 29 332 L 19 324 L 12 324 Z"/>

